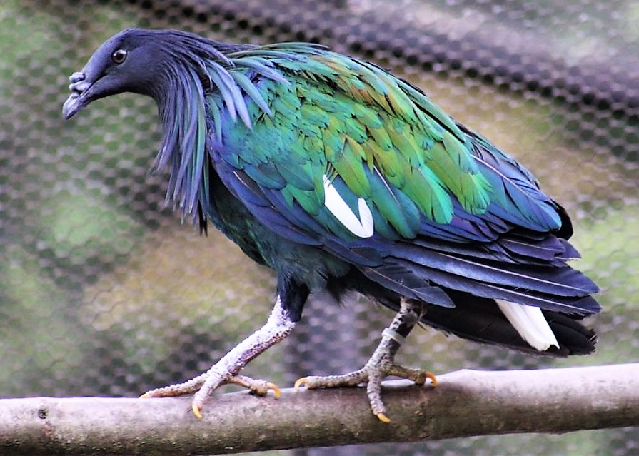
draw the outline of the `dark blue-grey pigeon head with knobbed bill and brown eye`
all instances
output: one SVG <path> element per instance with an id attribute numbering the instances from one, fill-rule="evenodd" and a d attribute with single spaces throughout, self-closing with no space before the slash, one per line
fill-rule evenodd
<path id="1" fill-rule="evenodd" d="M 163 101 L 171 75 L 202 59 L 226 63 L 224 54 L 242 49 L 178 30 L 126 29 L 95 51 L 82 71 L 71 75 L 71 96 L 63 107 L 73 117 L 91 101 L 122 92 L 141 93 Z"/>

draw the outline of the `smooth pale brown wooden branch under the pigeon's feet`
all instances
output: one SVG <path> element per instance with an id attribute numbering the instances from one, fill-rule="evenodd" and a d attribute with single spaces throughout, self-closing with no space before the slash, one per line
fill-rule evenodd
<path id="1" fill-rule="evenodd" d="M 639 426 L 639 363 L 441 375 L 439 385 L 385 382 L 391 424 L 363 388 L 284 390 L 279 400 L 191 398 L 0 400 L 2 455 L 190 455 L 408 442 L 510 432 Z"/>

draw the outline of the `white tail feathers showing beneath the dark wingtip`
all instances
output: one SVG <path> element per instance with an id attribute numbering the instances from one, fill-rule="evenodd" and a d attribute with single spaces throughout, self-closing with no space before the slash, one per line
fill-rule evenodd
<path id="1" fill-rule="evenodd" d="M 500 299 L 495 299 L 495 302 L 508 318 L 510 324 L 531 347 L 540 352 L 548 350 L 550 345 L 559 348 L 557 338 L 555 338 L 555 334 L 550 329 L 550 325 L 548 325 L 540 308 Z"/>

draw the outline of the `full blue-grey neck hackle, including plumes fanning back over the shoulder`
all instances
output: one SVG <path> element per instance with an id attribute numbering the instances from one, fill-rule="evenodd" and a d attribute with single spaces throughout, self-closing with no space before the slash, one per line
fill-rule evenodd
<path id="1" fill-rule="evenodd" d="M 170 178 L 167 200 L 173 200 L 182 216 L 201 214 L 198 203 L 208 207 L 208 150 L 211 138 L 222 143 L 221 111 L 231 123 L 239 119 L 252 128 L 247 101 L 250 99 L 266 115 L 271 111 L 253 86 L 253 76 L 288 84 L 286 78 L 268 60 L 254 58 L 243 51 L 251 45 L 228 45 L 183 32 L 174 32 L 166 40 L 158 83 L 149 88 L 163 122 L 163 140 L 155 168 L 168 167 Z M 261 51 L 279 57 L 279 51 Z M 291 59 L 296 59 L 291 54 Z M 297 58 L 298 59 L 298 58 Z M 207 122 L 208 119 L 208 122 Z"/>

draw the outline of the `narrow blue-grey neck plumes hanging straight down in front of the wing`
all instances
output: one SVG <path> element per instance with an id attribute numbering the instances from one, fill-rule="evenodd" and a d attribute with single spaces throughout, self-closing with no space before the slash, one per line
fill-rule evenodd
<path id="1" fill-rule="evenodd" d="M 163 123 L 163 139 L 154 168 L 168 167 L 167 201 L 174 201 L 183 217 L 193 214 L 195 219 L 198 201 L 208 205 L 208 176 L 203 176 L 208 173 L 206 95 L 217 89 L 209 74 L 211 65 L 221 62 L 215 63 L 216 70 L 226 71 L 222 64 L 232 64 L 223 51 L 251 46 L 231 46 L 180 31 L 150 33 L 167 35 L 158 82 L 149 87 Z"/>

